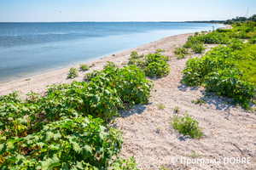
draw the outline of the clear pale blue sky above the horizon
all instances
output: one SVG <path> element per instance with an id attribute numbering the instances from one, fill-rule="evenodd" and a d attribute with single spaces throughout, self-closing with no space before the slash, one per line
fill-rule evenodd
<path id="1" fill-rule="evenodd" d="M 256 0 L 0 0 L 0 22 L 228 20 L 246 14 L 256 14 Z"/>

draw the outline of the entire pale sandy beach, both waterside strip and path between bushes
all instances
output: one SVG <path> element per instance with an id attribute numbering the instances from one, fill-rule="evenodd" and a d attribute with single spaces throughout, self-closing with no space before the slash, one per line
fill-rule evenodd
<path id="1" fill-rule="evenodd" d="M 136 105 L 131 111 L 121 111 L 120 117 L 111 124 L 123 132 L 123 149 L 119 156 L 128 158 L 134 156 L 138 167 L 145 170 L 156 170 L 158 167 L 168 169 L 256 169 L 256 114 L 255 111 L 245 111 L 241 106 L 225 104 L 224 98 L 216 94 L 205 95 L 203 87 L 189 87 L 183 84 L 183 69 L 189 59 L 177 59 L 175 48 L 182 46 L 187 33 L 165 37 L 143 46 L 132 48 L 119 54 L 113 54 L 88 63 L 89 71 L 79 71 L 79 65 L 74 66 L 79 71 L 79 77 L 67 79 L 69 68 L 52 71 L 35 77 L 20 79 L 14 82 L 0 84 L 0 95 L 9 94 L 12 90 L 27 94 L 33 91 L 44 95 L 46 86 L 59 83 L 71 83 L 73 80 L 83 81 L 84 75 L 93 70 L 102 70 L 107 61 L 112 61 L 122 67 L 127 64 L 132 51 L 138 54 L 155 53 L 157 48 L 166 49 L 161 54 L 171 58 L 167 63 L 171 72 L 160 79 L 150 79 L 154 82 L 156 93 L 152 92 L 148 105 Z M 207 45 L 207 51 L 216 45 Z M 192 58 L 203 54 L 191 54 Z M 81 63 L 82 64 L 82 63 Z M 206 99 L 207 104 L 195 105 L 191 100 Z M 160 110 L 157 105 L 166 108 Z M 199 122 L 205 134 L 203 139 L 190 139 L 177 133 L 169 124 L 174 108 L 180 107 L 179 115 L 186 112 Z M 215 163 L 185 163 L 184 159 L 212 159 Z M 224 158 L 245 157 L 251 163 L 230 163 Z M 174 158 L 174 159 L 173 159 Z M 175 161 L 173 161 L 175 160 Z M 219 160 L 219 161 L 218 161 Z M 218 161 L 219 163 L 217 163 Z"/>

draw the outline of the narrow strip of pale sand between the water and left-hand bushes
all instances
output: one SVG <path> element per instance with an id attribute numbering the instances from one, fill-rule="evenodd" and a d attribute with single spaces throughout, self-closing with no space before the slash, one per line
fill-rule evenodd
<path id="1" fill-rule="evenodd" d="M 95 66 L 90 67 L 89 71 L 79 71 L 79 65 L 73 65 L 73 67 L 79 71 L 79 77 L 75 77 L 73 79 L 67 79 L 69 68 L 72 67 L 70 66 L 57 71 L 49 71 L 35 76 L 18 78 L 17 80 L 10 82 L 3 82 L 0 83 L 0 95 L 10 94 L 13 90 L 21 91 L 23 94 L 28 94 L 32 91 L 34 93 L 44 95 L 46 86 L 60 83 L 71 83 L 74 80 L 82 82 L 86 73 L 92 72 L 93 70 L 101 71 L 103 69 L 103 65 L 107 64 L 107 61 L 111 61 L 121 67 L 122 63 L 127 64 L 129 62 L 132 51 L 137 51 L 138 54 L 149 54 L 155 53 L 157 48 L 163 48 L 162 46 L 166 46 L 163 48 L 166 49 L 166 52 L 161 54 L 172 58 L 172 56 L 175 56 L 174 50 L 176 48 L 176 46 L 173 45 L 175 44 L 178 46 L 179 44 L 183 44 L 183 42 L 187 40 L 187 37 L 191 35 L 194 35 L 194 32 L 179 34 L 171 37 L 164 37 L 160 40 L 146 43 L 137 48 L 131 48 L 118 54 L 113 54 L 114 56 L 108 55 L 101 59 L 95 59 L 86 63 L 81 63 L 88 66 L 91 66 L 94 63 Z M 167 52 L 167 50 L 169 50 L 169 52 Z"/>

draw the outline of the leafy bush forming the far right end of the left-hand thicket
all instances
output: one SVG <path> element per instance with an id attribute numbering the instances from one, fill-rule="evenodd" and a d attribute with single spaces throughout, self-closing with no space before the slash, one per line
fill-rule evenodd
<path id="1" fill-rule="evenodd" d="M 113 88 L 119 95 L 119 99 L 131 106 L 148 104 L 150 90 L 153 88 L 153 83 L 146 79 L 144 71 L 136 65 L 130 65 L 124 69 L 108 68 L 92 78 L 91 82 Z"/>

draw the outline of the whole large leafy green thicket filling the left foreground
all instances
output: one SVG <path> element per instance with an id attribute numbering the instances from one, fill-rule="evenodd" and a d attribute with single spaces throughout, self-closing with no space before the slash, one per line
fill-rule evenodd
<path id="1" fill-rule="evenodd" d="M 1 96 L 0 168 L 137 169 L 134 158 L 117 156 L 121 133 L 104 124 L 118 109 L 147 104 L 154 84 L 136 65 L 104 68 L 88 82 L 49 86 L 44 97 Z"/>

